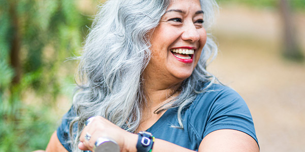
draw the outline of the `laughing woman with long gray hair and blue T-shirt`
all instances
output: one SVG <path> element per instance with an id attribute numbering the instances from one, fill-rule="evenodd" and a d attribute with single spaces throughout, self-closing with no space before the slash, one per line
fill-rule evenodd
<path id="1" fill-rule="evenodd" d="M 259 151 L 245 101 L 206 71 L 217 51 L 205 31 L 216 6 L 206 0 L 104 4 L 80 57 L 73 106 L 47 151 L 93 151 L 99 137 L 112 138 L 120 151 Z M 156 140 L 141 142 L 140 131 Z M 139 149 L 143 144 L 149 146 Z"/>

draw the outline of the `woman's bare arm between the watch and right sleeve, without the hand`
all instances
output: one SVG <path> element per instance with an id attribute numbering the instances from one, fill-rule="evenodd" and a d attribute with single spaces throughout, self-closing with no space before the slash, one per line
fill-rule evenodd
<path id="1" fill-rule="evenodd" d="M 137 139 L 137 138 L 136 138 Z M 137 141 L 137 140 L 133 140 Z M 136 144 L 134 142 L 133 144 Z M 136 151 L 136 150 L 133 150 Z M 152 152 L 158 151 L 193 151 L 173 143 L 156 139 Z M 223 129 L 211 132 L 200 143 L 199 152 L 258 152 L 259 148 L 256 141 L 246 133 Z"/>

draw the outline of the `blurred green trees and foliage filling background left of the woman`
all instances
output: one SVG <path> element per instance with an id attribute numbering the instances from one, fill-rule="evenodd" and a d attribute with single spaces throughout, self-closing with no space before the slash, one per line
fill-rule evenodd
<path id="1" fill-rule="evenodd" d="M 91 24 L 77 2 L 0 0 L 0 151 L 45 148 L 54 131 L 50 105 L 63 88 L 60 77 L 73 78 L 75 68 L 62 63 L 81 49 Z M 41 107 L 23 102 L 28 90 Z"/>

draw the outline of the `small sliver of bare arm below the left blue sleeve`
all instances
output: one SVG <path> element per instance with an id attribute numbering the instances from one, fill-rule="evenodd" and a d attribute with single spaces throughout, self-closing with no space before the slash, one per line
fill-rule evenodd
<path id="1" fill-rule="evenodd" d="M 68 152 L 68 150 L 60 143 L 58 137 L 57 137 L 57 132 L 54 131 L 54 133 L 51 136 L 51 139 L 48 143 L 46 152 Z"/>

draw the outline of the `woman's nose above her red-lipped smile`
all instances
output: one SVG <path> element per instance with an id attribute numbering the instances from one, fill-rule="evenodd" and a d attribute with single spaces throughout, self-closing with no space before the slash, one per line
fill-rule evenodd
<path id="1" fill-rule="evenodd" d="M 190 41 L 192 43 L 199 41 L 200 34 L 198 33 L 197 28 L 193 22 L 185 25 L 185 30 L 181 34 L 181 39 L 184 41 Z"/>

